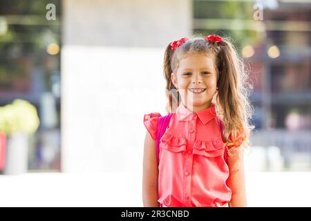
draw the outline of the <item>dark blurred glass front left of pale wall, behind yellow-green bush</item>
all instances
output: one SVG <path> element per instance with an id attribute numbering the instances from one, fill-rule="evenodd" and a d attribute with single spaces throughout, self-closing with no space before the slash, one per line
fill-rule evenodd
<path id="1" fill-rule="evenodd" d="M 23 99 L 35 106 L 40 119 L 37 131 L 29 135 L 29 171 L 60 169 L 62 12 L 61 1 L 55 1 L 57 19 L 48 21 L 48 3 L 0 3 L 0 106 Z M 5 124 L 3 118 L 0 122 Z"/>

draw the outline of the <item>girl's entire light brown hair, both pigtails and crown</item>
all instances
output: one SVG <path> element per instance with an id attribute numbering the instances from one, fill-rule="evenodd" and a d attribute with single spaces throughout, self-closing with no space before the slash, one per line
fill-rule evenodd
<path id="1" fill-rule="evenodd" d="M 218 93 L 215 105 L 218 108 L 218 118 L 225 124 L 225 141 L 231 143 L 238 140 L 238 136 L 242 136 L 241 147 L 249 146 L 249 135 L 254 129 L 254 126 L 249 125 L 249 119 L 254 110 L 248 95 L 253 88 L 252 84 L 247 82 L 248 73 L 243 62 L 238 58 L 234 46 L 228 39 L 214 42 L 207 41 L 203 37 L 194 37 L 187 39 L 175 50 L 171 50 L 170 44 L 167 46 L 163 67 L 164 78 L 167 81 L 167 112 L 175 111 L 180 104 L 180 96 L 171 81 L 171 73 L 176 73 L 180 59 L 191 53 L 213 57 L 216 62 Z M 232 149 L 228 148 L 229 154 Z"/>

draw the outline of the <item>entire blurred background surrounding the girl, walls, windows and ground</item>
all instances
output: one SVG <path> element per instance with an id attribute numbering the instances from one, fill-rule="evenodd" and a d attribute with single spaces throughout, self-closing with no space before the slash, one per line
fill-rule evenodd
<path id="1" fill-rule="evenodd" d="M 211 34 L 254 85 L 249 206 L 311 206 L 310 21 L 308 0 L 1 0 L 0 206 L 142 206 L 164 48 Z"/>

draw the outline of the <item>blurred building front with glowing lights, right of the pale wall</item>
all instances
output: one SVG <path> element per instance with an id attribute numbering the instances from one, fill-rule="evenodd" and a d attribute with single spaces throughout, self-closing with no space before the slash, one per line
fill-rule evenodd
<path id="1" fill-rule="evenodd" d="M 311 169 L 310 15 L 310 1 L 194 1 L 194 32 L 229 35 L 244 57 L 265 169 L 281 158 L 284 170 Z"/>

